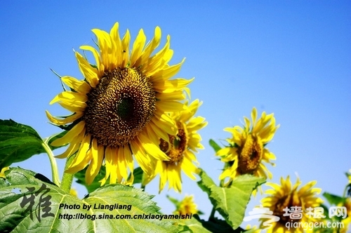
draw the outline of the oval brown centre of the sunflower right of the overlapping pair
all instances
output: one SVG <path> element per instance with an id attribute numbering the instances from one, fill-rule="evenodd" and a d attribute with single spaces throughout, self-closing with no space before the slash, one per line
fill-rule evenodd
<path id="1" fill-rule="evenodd" d="M 249 134 L 244 147 L 239 151 L 238 171 L 241 174 L 256 170 L 263 156 L 263 145 L 256 135 Z"/>

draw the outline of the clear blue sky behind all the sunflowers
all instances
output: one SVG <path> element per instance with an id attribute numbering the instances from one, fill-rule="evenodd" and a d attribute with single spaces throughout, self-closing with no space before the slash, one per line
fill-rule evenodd
<path id="1" fill-rule="evenodd" d="M 259 114 L 274 112 L 281 125 L 267 145 L 277 157 L 276 167 L 267 165 L 272 181 L 286 175 L 295 181 L 298 174 L 303 184 L 317 180 L 323 192 L 342 194 L 351 168 L 350 15 L 350 1 L 6 1 L 0 10 L 0 119 L 32 126 L 43 138 L 58 133 L 45 110 L 67 112 L 48 105 L 62 91 L 50 68 L 82 79 L 72 49 L 93 45 L 93 28 L 110 31 L 118 21 L 121 34 L 128 28 L 134 39 L 143 28 L 151 39 L 159 26 L 161 44 L 171 35 L 171 64 L 186 58 L 177 76 L 194 76 L 192 99 L 204 102 L 198 115 L 208 121 L 200 131 L 206 149 L 197 158 L 214 180 L 223 164 L 208 140 L 229 137 L 223 128 L 241 125 L 256 106 Z M 64 161 L 58 163 L 62 171 Z M 16 165 L 51 178 L 44 154 Z M 165 191 L 154 200 L 166 213 L 173 211 L 166 194 L 194 194 L 201 211 L 211 211 L 184 174 L 183 194 Z M 158 179 L 147 192 L 158 193 Z"/>

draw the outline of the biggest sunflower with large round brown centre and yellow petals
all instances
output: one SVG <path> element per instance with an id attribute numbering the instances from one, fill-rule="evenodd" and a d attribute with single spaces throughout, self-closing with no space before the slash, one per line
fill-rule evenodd
<path id="1" fill-rule="evenodd" d="M 70 157 L 77 152 L 68 173 L 76 173 L 88 164 L 86 182 L 91 183 L 105 159 L 106 176 L 110 183 L 128 178 L 128 169 L 133 171 L 133 157 L 143 171 L 152 174 L 151 157 L 168 160 L 159 149 L 159 138 L 168 141 L 168 135 L 176 135 L 177 127 L 169 112 L 184 109 L 179 100 L 191 80 L 172 79 L 184 60 L 177 65 L 168 65 L 173 51 L 170 36 L 166 45 L 157 53 L 161 29 L 156 27 L 154 38 L 145 46 L 146 36 L 140 29 L 131 51 L 128 30 L 123 39 L 119 36 L 119 24 L 110 34 L 100 29 L 92 30 L 97 37 L 98 51 L 91 46 L 81 46 L 95 58 L 91 65 L 80 53 L 75 52 L 84 80 L 72 76 L 61 78 L 71 91 L 63 91 L 53 98 L 71 114 L 55 118 L 46 112 L 55 125 L 69 131 L 52 145 L 67 145 L 59 158 Z M 100 53 L 99 53 L 100 52 Z M 129 182 L 132 182 L 129 180 Z"/>

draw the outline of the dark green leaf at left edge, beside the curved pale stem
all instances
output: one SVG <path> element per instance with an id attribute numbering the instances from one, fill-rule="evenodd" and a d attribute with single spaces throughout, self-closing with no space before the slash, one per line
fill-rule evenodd
<path id="1" fill-rule="evenodd" d="M 43 140 L 30 126 L 0 119 L 0 170 L 45 152 Z"/>

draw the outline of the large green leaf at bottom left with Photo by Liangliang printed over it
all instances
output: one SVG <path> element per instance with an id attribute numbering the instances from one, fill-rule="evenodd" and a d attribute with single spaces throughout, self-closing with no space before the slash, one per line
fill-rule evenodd
<path id="1" fill-rule="evenodd" d="M 32 171 L 10 168 L 6 171 L 6 180 L 0 179 L 0 232 L 177 230 L 173 220 L 152 219 L 159 207 L 151 200 L 153 196 L 141 189 L 107 185 L 81 200 L 36 176 Z M 108 208 L 98 208 L 99 205 Z M 88 206 L 91 208 L 87 209 Z M 134 219 L 134 216 L 149 218 Z"/>

